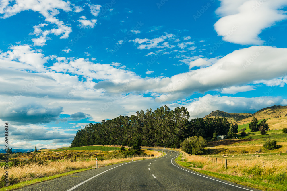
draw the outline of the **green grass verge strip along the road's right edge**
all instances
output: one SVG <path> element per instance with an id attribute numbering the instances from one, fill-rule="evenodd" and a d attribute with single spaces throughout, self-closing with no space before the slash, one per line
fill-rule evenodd
<path id="1" fill-rule="evenodd" d="M 267 183 L 267 182 L 264 182 L 263 178 L 253 179 L 253 178 L 248 178 L 248 177 L 244 177 L 244 176 L 234 176 L 234 175 L 221 174 L 221 173 L 211 172 L 211 171 L 207 171 L 207 170 L 196 170 L 196 169 L 192 169 L 192 164 L 189 164 L 189 163 L 183 162 L 183 161 L 176 161 L 176 162 L 179 165 L 186 167 L 188 169 L 194 170 L 196 172 L 200 172 L 202 174 L 206 174 L 209 176 L 213 176 L 216 178 L 220 178 L 223 180 L 234 182 L 236 184 L 241 184 L 244 186 L 249 186 L 249 187 L 260 189 L 260 190 L 284 190 L 284 191 L 287 191 L 285 181 L 282 182 L 281 184 L 280 183 L 279 184 Z M 222 167 L 222 170 L 223 169 L 224 169 L 224 167 Z"/>

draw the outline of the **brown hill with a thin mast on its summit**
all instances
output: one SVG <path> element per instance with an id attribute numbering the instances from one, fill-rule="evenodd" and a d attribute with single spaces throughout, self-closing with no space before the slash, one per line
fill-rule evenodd
<path id="1" fill-rule="evenodd" d="M 234 123 L 236 121 L 245 119 L 249 115 L 251 115 L 251 113 L 227 113 L 224 111 L 215 110 L 212 111 L 210 114 L 206 115 L 205 117 L 203 117 L 203 119 L 225 117 L 226 119 L 228 119 L 230 123 Z"/>

